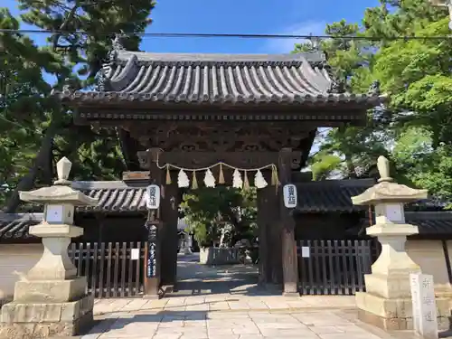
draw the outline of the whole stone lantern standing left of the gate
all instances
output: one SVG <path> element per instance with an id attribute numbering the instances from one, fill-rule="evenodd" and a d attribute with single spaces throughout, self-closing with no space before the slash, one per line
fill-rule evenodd
<path id="1" fill-rule="evenodd" d="M 94 206 L 96 199 L 71 188 L 71 162 L 57 164 L 58 180 L 51 187 L 20 192 L 24 202 L 44 204 L 44 220 L 29 233 L 42 238 L 42 258 L 15 283 L 14 300 L 1 311 L 1 338 L 43 338 L 75 335 L 93 319 L 93 297 L 85 294 L 86 277 L 68 256 L 71 238 L 83 234 L 73 225 L 75 206 Z"/>

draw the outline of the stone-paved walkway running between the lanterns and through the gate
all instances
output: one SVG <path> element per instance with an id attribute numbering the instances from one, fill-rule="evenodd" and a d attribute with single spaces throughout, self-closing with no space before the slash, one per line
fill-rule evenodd
<path id="1" fill-rule="evenodd" d="M 356 320 L 353 297 L 281 297 L 253 267 L 207 268 L 180 257 L 179 288 L 160 300 L 101 299 L 82 339 L 391 339 Z"/>

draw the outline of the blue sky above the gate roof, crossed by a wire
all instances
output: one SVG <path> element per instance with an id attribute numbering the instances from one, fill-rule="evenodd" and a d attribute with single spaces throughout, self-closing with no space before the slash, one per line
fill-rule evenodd
<path id="1" fill-rule="evenodd" d="M 14 0 L 2 5 L 17 14 Z M 152 14 L 155 33 L 259 33 L 321 34 L 325 24 L 345 19 L 359 22 L 366 7 L 378 0 L 157 0 Z M 23 26 L 23 28 L 28 28 Z M 33 34 L 43 43 L 45 35 Z M 141 49 L 147 52 L 290 52 L 296 41 L 240 38 L 155 38 L 145 37 Z"/>

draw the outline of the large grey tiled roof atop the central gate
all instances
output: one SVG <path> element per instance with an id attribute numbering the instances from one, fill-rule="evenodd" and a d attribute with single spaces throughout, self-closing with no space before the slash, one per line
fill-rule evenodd
<path id="1" fill-rule="evenodd" d="M 116 51 L 104 65 L 103 91 L 55 91 L 78 102 L 139 101 L 193 104 L 369 103 L 378 95 L 333 94 L 320 52 L 191 54 Z"/>

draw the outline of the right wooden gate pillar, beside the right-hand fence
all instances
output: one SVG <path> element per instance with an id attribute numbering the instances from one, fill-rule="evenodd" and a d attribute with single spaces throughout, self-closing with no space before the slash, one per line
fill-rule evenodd
<path id="1" fill-rule="evenodd" d="M 292 149 L 283 148 L 279 151 L 278 174 L 281 186 L 279 187 L 279 213 L 282 226 L 282 268 L 285 296 L 299 296 L 298 294 L 298 265 L 297 242 L 295 241 L 295 221 L 292 213 L 284 205 L 282 188 L 291 183 Z"/>

